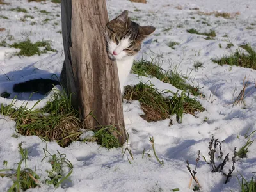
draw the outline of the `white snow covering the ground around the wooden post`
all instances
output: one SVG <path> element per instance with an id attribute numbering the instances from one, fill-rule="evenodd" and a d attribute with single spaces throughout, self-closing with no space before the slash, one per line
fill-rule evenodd
<path id="1" fill-rule="evenodd" d="M 212 136 L 223 141 L 224 154 L 230 153 L 230 161 L 227 162 L 224 172 L 232 167 L 231 157 L 234 147 L 237 150 L 243 146 L 247 139 L 246 132 L 256 129 L 256 88 L 255 70 L 236 66 L 220 66 L 211 61 L 211 58 L 220 58 L 230 55 L 239 49 L 239 45 L 250 43 L 256 49 L 256 1 L 254 0 L 147 0 L 147 4 L 131 3 L 127 0 L 107 0 L 109 19 L 113 19 L 123 10 L 129 10 L 130 17 L 140 25 L 152 25 L 156 27 L 154 35 L 150 36 L 143 44 L 140 54 L 147 60 L 155 61 L 164 70 L 177 68 L 182 74 L 189 75 L 189 84 L 199 86 L 205 99 L 198 98 L 205 111 L 196 116 L 184 115 L 182 123 L 175 122 L 169 126 L 170 120 L 160 122 L 146 122 L 140 115 L 140 103 L 133 101 L 124 103 L 124 116 L 126 129 L 129 132 L 129 148 L 134 160 L 131 164 L 126 154 L 122 157 L 121 149 L 101 148 L 96 143 L 74 142 L 66 148 L 61 148 L 55 142 L 47 142 L 47 150 L 56 154 L 57 150 L 67 155 L 67 159 L 74 166 L 70 180 L 63 183 L 55 191 L 172 191 L 179 188 L 180 191 L 192 191 L 189 189 L 191 175 L 186 168 L 186 160 L 195 167 L 195 159 L 198 150 L 207 159 L 208 145 Z M 0 97 L 0 103 L 10 104 L 15 93 L 12 92 L 13 84 L 33 79 L 35 77 L 51 77 L 52 74 L 60 74 L 63 56 L 61 30 L 60 4 L 46 1 L 46 4 L 27 0 L 6 0 L 10 5 L 0 4 L 0 28 L 6 28 L 0 32 L 0 42 L 7 38 L 8 42 L 17 42 L 26 39 L 31 41 L 51 40 L 52 47 L 58 52 L 48 52 L 40 56 L 31 57 L 12 56 L 18 51 L 13 48 L 0 47 L 0 93 L 10 92 L 10 99 Z M 13 12 L 10 8 L 20 6 L 26 8 L 28 13 Z M 198 10 L 199 9 L 199 10 Z M 41 13 L 47 10 L 49 14 Z M 234 18 L 225 19 L 214 15 L 200 15 L 200 12 L 228 12 L 239 13 Z M 33 15 L 34 18 L 26 18 L 24 15 Z M 45 19 L 50 19 L 45 22 Z M 33 25 L 31 25 L 33 23 Z M 254 29 L 251 29 L 251 28 Z M 214 40 L 205 40 L 201 35 L 187 33 L 187 29 L 195 28 L 204 33 L 210 29 L 216 31 Z M 10 38 L 13 37 L 13 38 Z M 10 41 L 9 41 L 10 40 Z M 175 49 L 168 47 L 169 42 L 178 42 Z M 234 44 L 226 49 L 227 44 Z M 221 44 L 221 47 L 219 46 Z M 92 50 L 93 51 L 93 50 Z M 200 62 L 202 67 L 195 69 L 194 63 Z M 6 77 L 8 76 L 8 78 Z M 250 85 L 246 88 L 242 106 L 232 106 L 234 98 L 243 88 L 244 76 L 248 78 Z M 127 84 L 136 84 L 139 81 L 147 81 L 148 77 L 140 77 L 134 74 L 129 76 Z M 150 81 L 163 90 L 172 89 L 172 86 L 157 80 Z M 234 90 L 237 92 L 234 93 Z M 233 96 L 234 94 L 234 96 Z M 211 97 L 210 97 L 211 96 Z M 27 100 L 29 93 L 18 95 L 16 105 Z M 28 107 L 33 106 L 36 100 L 42 96 L 34 95 Z M 40 102 L 44 106 L 49 99 L 47 96 Z M 8 161 L 7 168 L 16 168 L 20 161 L 18 144 L 25 143 L 23 148 L 28 149 L 28 167 L 38 170 L 43 180 L 51 169 L 51 164 L 41 162 L 44 157 L 44 141 L 36 136 L 19 136 L 13 138 L 15 122 L 8 117 L 0 115 L 0 169 L 6 168 L 3 161 Z M 249 130 L 249 131 L 248 131 Z M 149 136 L 154 136 L 155 147 L 159 159 L 164 160 L 161 166 L 152 152 Z M 256 136 L 252 135 L 252 140 Z M 149 153 L 142 158 L 143 149 Z M 131 157 L 127 153 L 129 159 Z M 22 165 L 24 167 L 24 165 Z M 241 179 L 240 172 L 246 179 L 256 172 L 256 143 L 249 148 L 247 157 L 239 159 L 235 163 L 236 170 L 227 184 L 222 173 L 211 173 L 211 166 L 205 163 L 201 157 L 197 169 L 196 178 L 200 182 L 200 191 L 240 191 L 236 176 Z M 237 172 L 238 171 L 238 172 Z M 0 191 L 7 191 L 13 182 L 6 177 L 0 177 Z M 192 186 L 195 183 L 192 184 Z M 42 184 L 40 188 L 28 191 L 54 191 L 53 186 Z"/>

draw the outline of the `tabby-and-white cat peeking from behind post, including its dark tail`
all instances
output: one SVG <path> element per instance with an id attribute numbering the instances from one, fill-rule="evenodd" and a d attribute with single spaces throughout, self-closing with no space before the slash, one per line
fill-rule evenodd
<path id="1" fill-rule="evenodd" d="M 134 56 L 140 51 L 143 40 L 155 29 L 132 22 L 127 10 L 106 24 L 106 49 L 109 58 L 116 60 L 121 93 L 124 91 L 125 80 L 131 71 Z M 60 79 L 65 77 L 64 73 L 63 67 Z M 60 82 L 65 82 L 65 79 L 61 79 Z M 38 92 L 45 95 L 54 85 L 60 85 L 60 82 L 53 79 L 32 79 L 14 84 L 13 92 Z"/>

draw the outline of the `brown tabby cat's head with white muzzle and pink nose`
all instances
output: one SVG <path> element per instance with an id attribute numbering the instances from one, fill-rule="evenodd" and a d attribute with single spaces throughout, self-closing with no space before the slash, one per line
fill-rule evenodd
<path id="1" fill-rule="evenodd" d="M 152 26 L 139 26 L 132 22 L 125 10 L 118 17 L 106 25 L 106 42 L 108 56 L 111 60 L 124 60 L 134 56 L 141 49 L 141 43 L 156 28 Z"/>

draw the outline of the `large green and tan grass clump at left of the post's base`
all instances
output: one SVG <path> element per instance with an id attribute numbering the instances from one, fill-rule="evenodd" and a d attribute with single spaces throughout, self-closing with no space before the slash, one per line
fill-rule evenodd
<path id="1" fill-rule="evenodd" d="M 72 108 L 70 99 L 64 94 L 56 94 L 54 100 L 42 109 L 33 108 L 26 109 L 26 105 L 16 108 L 13 99 L 9 106 L 1 104 L 1 114 L 15 120 L 17 131 L 25 136 L 36 135 L 46 141 L 57 141 L 61 147 L 78 139 L 82 123 L 77 118 L 78 112 Z"/>

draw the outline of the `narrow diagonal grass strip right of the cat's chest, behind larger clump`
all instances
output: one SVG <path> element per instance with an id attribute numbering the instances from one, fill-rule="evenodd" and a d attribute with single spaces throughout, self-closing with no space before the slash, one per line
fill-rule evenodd
<path id="1" fill-rule="evenodd" d="M 191 95 L 201 95 L 198 88 L 187 84 L 186 81 L 180 77 L 177 72 L 173 72 L 172 70 L 166 72 L 163 70 L 163 68 L 154 65 L 153 61 L 135 61 L 132 66 L 132 72 L 134 74 L 138 74 L 139 76 L 154 76 L 164 83 L 170 83 L 184 92 L 191 93 Z"/>

